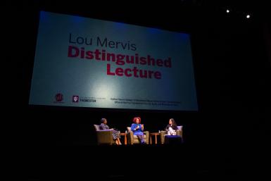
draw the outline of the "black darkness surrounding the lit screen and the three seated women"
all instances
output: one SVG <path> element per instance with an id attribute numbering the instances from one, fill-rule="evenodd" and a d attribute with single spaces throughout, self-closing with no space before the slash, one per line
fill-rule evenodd
<path id="1" fill-rule="evenodd" d="M 179 180 L 263 180 L 268 177 L 271 120 L 270 6 L 247 1 L 26 1 L 2 8 L 14 39 L 8 79 L 11 137 L 28 180 L 126 179 L 174 175 Z M 64 5 L 65 4 L 65 5 Z M 121 6 L 121 5 L 123 6 Z M 227 14 L 226 8 L 232 11 Z M 39 11 L 187 32 L 191 35 L 197 112 L 30 106 Z M 246 19 L 246 13 L 251 18 Z M 17 46 L 14 50 L 11 47 Z M 8 62 L 9 63 L 9 62 Z M 50 71 L 50 70 L 49 70 Z M 12 77 L 11 73 L 7 75 Z M 16 100 L 16 101 L 15 101 Z M 169 118 L 184 126 L 184 144 L 96 146 L 93 124 L 107 118 L 122 132 L 140 116 L 157 132 Z M 156 171 L 151 171 L 154 168 Z M 135 177 L 137 177 L 135 176 Z"/>

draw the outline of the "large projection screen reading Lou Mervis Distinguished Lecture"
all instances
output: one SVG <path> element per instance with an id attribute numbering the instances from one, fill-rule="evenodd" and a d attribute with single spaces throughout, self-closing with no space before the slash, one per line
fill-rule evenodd
<path id="1" fill-rule="evenodd" d="M 41 11 L 30 104 L 197 111 L 189 35 Z"/>

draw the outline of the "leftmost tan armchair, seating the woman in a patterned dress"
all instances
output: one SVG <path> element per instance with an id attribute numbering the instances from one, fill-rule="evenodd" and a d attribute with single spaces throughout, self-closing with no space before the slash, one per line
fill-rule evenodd
<path id="1" fill-rule="evenodd" d="M 97 136 L 97 144 L 115 144 L 113 130 L 100 130 L 100 125 L 94 125 Z"/>

